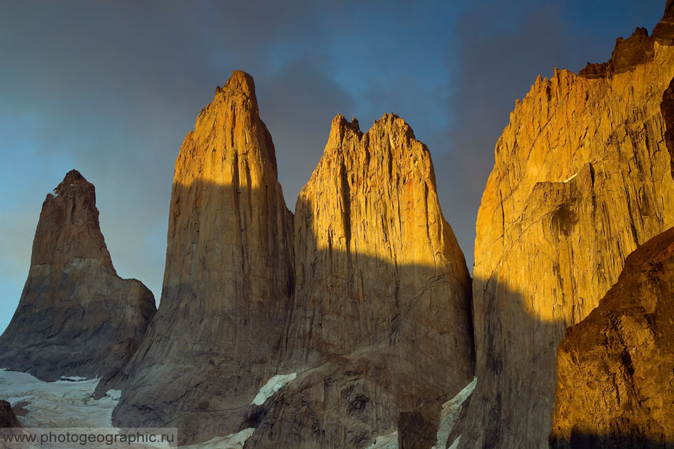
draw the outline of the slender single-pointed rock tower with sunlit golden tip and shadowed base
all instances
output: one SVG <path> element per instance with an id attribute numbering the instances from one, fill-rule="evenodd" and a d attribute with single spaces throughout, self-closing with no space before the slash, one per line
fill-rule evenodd
<path id="1" fill-rule="evenodd" d="M 184 442 L 238 430 L 275 374 L 292 295 L 292 214 L 253 79 L 234 72 L 175 165 L 162 300 L 126 372 L 114 422 L 179 428 Z"/>

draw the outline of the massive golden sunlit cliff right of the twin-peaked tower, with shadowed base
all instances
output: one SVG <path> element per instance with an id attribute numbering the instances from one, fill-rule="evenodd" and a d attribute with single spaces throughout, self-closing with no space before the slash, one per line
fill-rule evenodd
<path id="1" fill-rule="evenodd" d="M 674 47 L 637 34 L 629 55 L 617 45 L 620 70 L 539 77 L 499 138 L 477 216 L 478 381 L 461 448 L 547 445 L 565 328 L 672 226 L 674 121 L 661 106 Z"/>

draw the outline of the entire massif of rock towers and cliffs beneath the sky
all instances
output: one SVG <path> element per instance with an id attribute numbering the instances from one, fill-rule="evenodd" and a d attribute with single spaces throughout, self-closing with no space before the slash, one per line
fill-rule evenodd
<path id="1" fill-rule="evenodd" d="M 539 76 L 497 142 L 470 279 L 402 118 L 336 116 L 293 214 L 235 71 L 177 156 L 158 311 L 73 170 L 0 367 L 99 377 L 114 425 L 182 444 L 669 447 L 673 89 L 674 0 L 607 62 Z"/>

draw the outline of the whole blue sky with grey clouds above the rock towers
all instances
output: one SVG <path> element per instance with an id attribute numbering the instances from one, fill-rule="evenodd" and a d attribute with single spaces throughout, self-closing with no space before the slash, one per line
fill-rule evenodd
<path id="1" fill-rule="evenodd" d="M 402 116 L 431 150 L 469 268 L 494 146 L 538 74 L 610 57 L 665 1 L 3 1 L 0 330 L 28 275 L 45 196 L 96 186 L 122 277 L 158 299 L 173 166 L 232 70 L 255 77 L 289 209 L 338 113 Z"/>

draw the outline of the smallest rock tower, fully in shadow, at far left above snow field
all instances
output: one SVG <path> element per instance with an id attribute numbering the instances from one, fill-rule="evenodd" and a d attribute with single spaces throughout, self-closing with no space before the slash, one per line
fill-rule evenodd
<path id="1" fill-rule="evenodd" d="M 26 287 L 0 337 L 0 367 L 43 380 L 109 375 L 154 314 L 150 290 L 115 272 L 94 186 L 68 172 L 42 206 Z"/>

